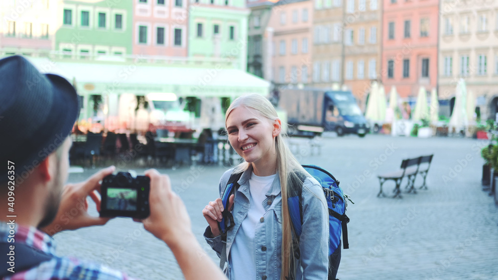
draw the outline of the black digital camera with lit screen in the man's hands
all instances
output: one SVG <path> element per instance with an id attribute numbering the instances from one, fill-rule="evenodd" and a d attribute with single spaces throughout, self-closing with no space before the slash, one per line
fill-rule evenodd
<path id="1" fill-rule="evenodd" d="M 102 180 L 100 216 L 148 217 L 149 190 L 150 179 L 146 176 L 133 178 L 127 172 L 106 176 Z"/>

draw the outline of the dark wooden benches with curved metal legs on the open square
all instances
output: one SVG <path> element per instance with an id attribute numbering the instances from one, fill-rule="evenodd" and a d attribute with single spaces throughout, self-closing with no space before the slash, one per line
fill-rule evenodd
<path id="1" fill-rule="evenodd" d="M 382 192 L 382 185 L 389 180 L 394 181 L 396 187 L 394 188 L 394 196 L 393 197 L 399 197 L 401 198 L 401 181 L 403 181 L 403 178 L 406 177 L 408 180 L 408 184 L 406 185 L 406 188 L 408 188 L 408 192 L 416 193 L 415 189 L 415 178 L 417 174 L 420 174 L 422 176 L 424 182 L 421 187 L 419 188 L 425 188 L 427 189 L 427 186 L 425 184 L 425 179 L 427 177 L 427 173 L 429 172 L 430 164 L 432 161 L 432 157 L 434 155 L 429 155 L 429 156 L 421 156 L 417 158 L 412 158 L 412 159 L 405 159 L 401 162 L 401 167 L 399 170 L 394 171 L 394 172 L 389 172 L 389 173 L 384 173 L 381 175 L 378 175 L 378 180 L 380 183 L 380 191 L 377 194 L 377 197 L 382 195 L 386 196 Z"/>

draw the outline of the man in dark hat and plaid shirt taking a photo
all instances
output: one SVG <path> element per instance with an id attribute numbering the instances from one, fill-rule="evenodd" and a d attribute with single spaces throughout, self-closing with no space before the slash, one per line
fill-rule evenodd
<path id="1" fill-rule="evenodd" d="M 86 199 L 100 206 L 99 182 L 114 167 L 63 187 L 78 110 L 77 94 L 64 78 L 42 75 L 20 56 L 0 60 L 0 277 L 6 280 L 128 279 L 99 264 L 55 255 L 51 235 L 109 220 L 90 216 Z M 144 228 L 170 247 L 185 279 L 226 279 L 209 258 L 199 258 L 203 249 L 169 177 L 155 170 L 145 175 L 150 216 Z M 75 207 L 72 219 L 60 219 Z"/>

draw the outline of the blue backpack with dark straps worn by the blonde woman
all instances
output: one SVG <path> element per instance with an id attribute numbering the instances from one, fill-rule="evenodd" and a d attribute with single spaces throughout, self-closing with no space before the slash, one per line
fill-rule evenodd
<path id="1" fill-rule="evenodd" d="M 329 208 L 329 277 L 328 280 L 335 280 L 337 276 L 337 270 L 339 268 L 339 263 L 341 262 L 341 234 L 343 237 L 343 247 L 344 249 L 349 248 L 348 243 L 348 227 L 349 222 L 348 216 L 346 216 L 346 207 L 348 199 L 351 201 L 349 196 L 345 195 L 339 187 L 339 181 L 337 181 L 332 174 L 326 170 L 315 166 L 315 165 L 303 165 L 304 170 L 306 170 L 311 176 L 313 176 L 318 183 L 322 185 L 323 192 L 327 200 L 327 205 Z M 228 180 L 227 187 L 223 192 L 223 219 L 219 222 L 222 240 L 226 242 L 227 232 L 234 225 L 234 217 L 232 213 L 228 210 L 229 197 L 240 187 L 237 183 L 241 178 L 242 173 L 232 174 Z M 305 178 L 300 178 L 304 182 Z M 290 219 L 292 221 L 292 226 L 294 229 L 295 237 L 294 243 L 299 242 L 299 237 L 302 233 L 302 223 L 303 223 L 303 209 L 301 203 L 301 192 L 302 188 L 296 193 L 291 193 L 287 199 Z M 351 201 L 354 203 L 353 201 Z M 294 257 L 299 259 L 300 252 L 299 247 L 294 246 L 297 250 L 294 252 Z M 223 260 L 224 263 L 226 260 Z M 221 266 L 221 264 L 220 264 Z"/>

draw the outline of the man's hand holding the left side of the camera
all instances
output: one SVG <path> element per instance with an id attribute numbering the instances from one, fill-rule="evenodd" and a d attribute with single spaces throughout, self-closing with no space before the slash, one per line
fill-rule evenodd
<path id="1" fill-rule="evenodd" d="M 48 235 L 54 235 L 67 229 L 107 223 L 110 218 L 94 217 L 88 214 L 87 196 L 90 195 L 97 205 L 97 211 L 100 211 L 100 182 L 104 177 L 112 174 L 115 169 L 114 166 L 111 166 L 97 172 L 85 182 L 66 185 L 62 191 L 61 203 L 55 219 L 41 230 Z"/>

